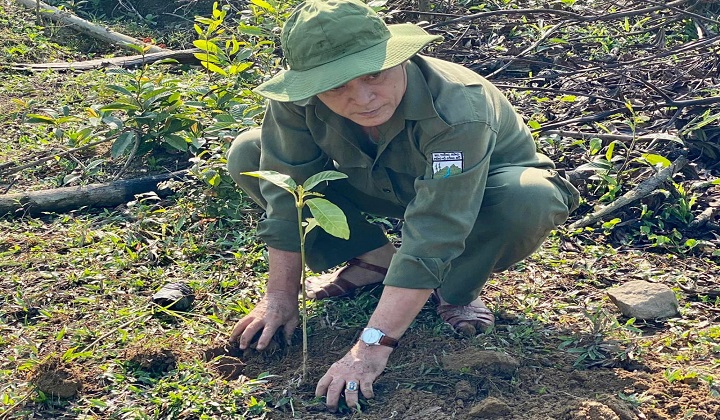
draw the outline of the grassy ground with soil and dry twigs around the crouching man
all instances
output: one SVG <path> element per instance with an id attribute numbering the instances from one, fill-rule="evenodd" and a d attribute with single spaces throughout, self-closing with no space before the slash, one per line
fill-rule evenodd
<path id="1" fill-rule="evenodd" d="M 198 13 L 209 13 L 200 3 L 205 9 Z M 605 17 L 615 12 L 609 3 L 571 3 L 517 7 Z M 176 14 L 185 13 L 187 4 L 180 6 Z M 690 224 L 720 206 L 720 187 L 704 184 L 720 175 L 718 11 L 709 2 L 678 3 L 686 6 L 701 17 L 663 9 L 607 23 L 597 18 L 601 26 L 593 26 L 546 9 L 436 27 L 445 42 L 432 54 L 506 84 L 503 90 L 531 126 L 567 129 L 538 137 L 561 167 L 573 170 L 601 158 L 615 164 L 593 178 L 580 177 L 584 203 L 567 225 L 651 176 L 636 159 L 643 153 L 669 160 L 683 155 L 690 164 L 675 182 L 616 212 L 614 223 L 579 230 L 566 225 L 537 254 L 495 275 L 483 295 L 497 317 L 489 334 L 454 334 L 428 303 L 376 382 L 376 398 L 362 401 L 360 413 L 347 407 L 326 412 L 314 386 L 355 342 L 381 289 L 311 305 L 308 377 L 301 384 L 299 334 L 292 346 L 263 353 L 233 348 L 228 333 L 262 293 L 267 276 L 254 233 L 259 213 L 237 192 L 222 195 L 190 177 L 165 199 L 0 219 L 0 419 L 720 419 L 718 218 L 710 212 L 705 224 Z M 108 18 L 124 11 L 103 7 Z M 620 9 L 644 7 L 649 4 L 627 2 Z M 436 2 L 434 14 L 415 8 L 415 2 L 390 2 L 384 13 L 393 21 L 436 25 L 513 9 L 473 1 Z M 62 31 L 19 30 L 11 23 L 18 16 L 32 22 L 31 14 L 12 5 L 0 5 L 0 12 L 0 29 L 12 29 L 0 37 L 8 62 L 122 54 Z M 148 12 L 156 11 L 142 10 Z M 566 26 L 551 28 L 561 18 Z M 136 36 L 152 31 L 125 29 Z M 548 32 L 561 29 L 566 32 Z M 546 43 L 523 52 L 544 34 Z M 69 39 L 88 49 L 68 47 L 63 41 Z M 187 46 L 183 39 L 159 37 L 176 49 Z M 681 47 L 688 49 L 665 54 Z M 47 150 L 70 147 L 50 129 L 24 124 L 25 113 L 67 104 L 85 114 L 90 104 L 109 99 L 98 94 L 102 71 L 2 71 L 0 105 L 11 112 L 0 118 L 0 190 L 63 185 L 78 162 L 95 158 L 106 162 L 101 171 L 85 171 L 83 182 L 112 178 L 122 161 L 107 158 L 108 145 L 5 175 Z M 186 76 L 188 83 L 204 77 Z M 669 137 L 639 139 L 635 130 Z M 591 140 L 587 133 L 619 137 Z M 613 139 L 619 142 L 615 152 Z M 155 155 L 152 165 L 139 161 L 129 173 L 172 170 L 188 157 Z M 397 232 L 390 235 L 401 241 Z M 606 292 L 639 279 L 671 287 L 680 315 L 623 317 Z M 171 281 L 194 290 L 190 311 L 149 305 Z"/>

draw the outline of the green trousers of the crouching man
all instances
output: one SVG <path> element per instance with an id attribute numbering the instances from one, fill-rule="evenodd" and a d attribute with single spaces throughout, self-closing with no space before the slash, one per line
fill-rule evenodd
<path id="1" fill-rule="evenodd" d="M 263 208 L 257 178 L 240 175 L 260 166 L 260 130 L 235 139 L 228 153 L 228 170 L 238 186 Z M 497 188 L 502 187 L 502 188 Z M 350 239 L 314 229 L 306 240 L 306 261 L 324 271 L 388 243 L 365 214 L 402 218 L 403 208 L 333 181 L 324 194 L 345 212 Z M 451 263 L 439 288 L 454 305 L 466 305 L 480 295 L 493 272 L 503 271 L 532 254 L 551 230 L 564 223 L 579 202 L 577 190 L 552 169 L 505 167 L 488 176 L 487 192 L 477 221 L 465 241 L 465 251 Z M 272 246 L 272 244 L 269 244 Z"/>

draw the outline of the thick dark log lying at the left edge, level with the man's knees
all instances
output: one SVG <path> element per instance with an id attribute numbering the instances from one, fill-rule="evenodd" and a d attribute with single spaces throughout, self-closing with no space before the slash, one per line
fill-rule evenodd
<path id="1" fill-rule="evenodd" d="M 170 191 L 159 190 L 158 184 L 170 179 L 181 178 L 186 173 L 187 171 L 177 171 L 108 184 L 90 184 L 0 195 L 0 216 L 8 214 L 35 215 L 43 212 L 62 213 L 81 207 L 113 207 L 131 201 L 136 194 L 151 191 L 158 194 L 170 194 Z"/>

